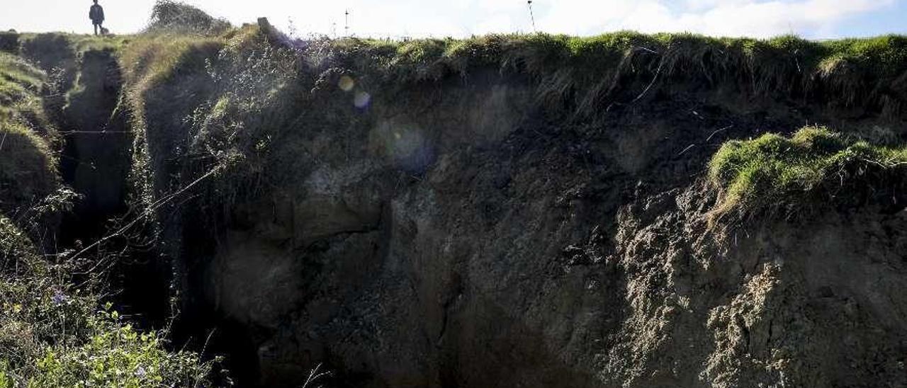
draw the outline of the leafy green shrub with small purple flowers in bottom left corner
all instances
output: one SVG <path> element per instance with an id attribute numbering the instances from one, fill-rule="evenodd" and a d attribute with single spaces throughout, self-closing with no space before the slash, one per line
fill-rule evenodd
<path id="1" fill-rule="evenodd" d="M 45 260 L 2 214 L 0 237 L 0 387 L 210 384 L 214 361 L 169 352 L 162 333 L 99 306 L 97 282 L 73 286 L 71 274 L 91 263 Z"/>

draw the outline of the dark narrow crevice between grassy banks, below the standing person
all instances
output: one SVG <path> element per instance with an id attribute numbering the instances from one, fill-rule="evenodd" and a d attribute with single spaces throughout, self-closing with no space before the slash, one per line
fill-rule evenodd
<path id="1" fill-rule="evenodd" d="M 66 89 L 47 97 L 45 104 L 54 106 L 51 116 L 62 134 L 63 183 L 80 195 L 73 211 L 63 216 L 58 241 L 63 247 L 83 247 L 122 228 L 121 218 L 129 210 L 132 133 L 118 109 L 122 70 L 114 53 L 89 50 L 70 61 L 61 65 L 70 70 L 59 75 L 60 87 Z M 139 318 L 141 325 L 162 325 L 170 309 L 169 266 L 130 236 L 109 238 L 95 252 L 97 259 L 115 263 L 108 286 L 122 313 Z"/>

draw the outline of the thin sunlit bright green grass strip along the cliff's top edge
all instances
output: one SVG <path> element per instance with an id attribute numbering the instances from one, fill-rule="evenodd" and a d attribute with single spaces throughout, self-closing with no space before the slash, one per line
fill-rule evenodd
<path id="1" fill-rule="evenodd" d="M 564 66 L 598 73 L 595 69 L 616 65 L 628 51 L 666 54 L 678 64 L 748 64 L 750 70 L 776 66 L 800 72 L 833 70 L 835 63 L 848 63 L 880 76 L 907 70 L 907 37 L 884 35 L 874 38 L 814 42 L 796 36 L 772 39 L 716 38 L 697 34 L 639 34 L 622 31 L 591 37 L 552 34 L 492 34 L 465 40 L 417 39 L 387 41 L 346 38 L 334 41 L 336 49 L 366 53 L 375 63 L 409 66 L 446 63 L 462 69 L 469 64 L 525 65 L 536 72 L 552 72 Z M 701 62 L 701 63 L 700 63 Z M 745 71 L 744 66 L 738 71 Z M 698 69 L 706 70 L 706 69 Z M 731 69 L 728 69 L 731 70 Z"/>

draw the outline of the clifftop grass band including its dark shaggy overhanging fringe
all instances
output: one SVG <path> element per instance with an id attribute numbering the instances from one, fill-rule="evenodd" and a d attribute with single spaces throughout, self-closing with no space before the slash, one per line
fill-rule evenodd
<path id="1" fill-rule="evenodd" d="M 538 82 L 540 101 L 566 99 L 590 113 L 611 102 L 628 102 L 652 80 L 656 88 L 666 80 L 736 85 L 746 94 L 804 97 L 889 116 L 907 107 L 907 37 L 902 35 L 813 42 L 795 36 L 493 34 L 407 42 L 348 38 L 314 46 L 313 52 L 330 51 L 346 67 L 385 85 L 436 81 L 482 68 L 526 74 Z M 642 85 L 628 91 L 628 82 Z"/>

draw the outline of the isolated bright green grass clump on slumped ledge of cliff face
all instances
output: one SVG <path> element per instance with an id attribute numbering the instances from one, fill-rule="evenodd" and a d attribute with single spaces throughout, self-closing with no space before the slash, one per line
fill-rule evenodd
<path id="1" fill-rule="evenodd" d="M 790 138 L 728 141 L 710 161 L 708 178 L 721 191 L 718 217 L 791 216 L 867 196 L 890 199 L 905 171 L 907 148 L 806 127 Z"/>

